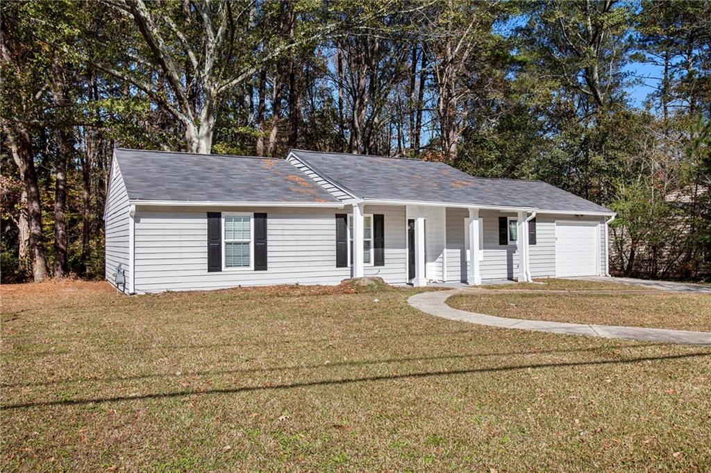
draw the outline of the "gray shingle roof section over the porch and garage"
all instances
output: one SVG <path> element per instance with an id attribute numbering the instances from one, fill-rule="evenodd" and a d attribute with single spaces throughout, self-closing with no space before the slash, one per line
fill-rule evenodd
<path id="1" fill-rule="evenodd" d="M 415 159 L 302 150 L 292 154 L 360 199 L 613 213 L 540 180 L 474 178 L 444 163 Z"/>

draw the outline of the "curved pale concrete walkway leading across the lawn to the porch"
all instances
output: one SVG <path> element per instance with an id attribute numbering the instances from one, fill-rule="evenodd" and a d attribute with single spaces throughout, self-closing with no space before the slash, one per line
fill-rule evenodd
<path id="1" fill-rule="evenodd" d="M 643 327 L 616 327 L 614 325 L 571 324 L 549 322 L 547 320 L 510 319 L 494 315 L 477 314 L 449 307 L 444 301 L 455 294 L 471 293 L 471 290 L 437 290 L 411 296 L 407 303 L 430 315 L 449 320 L 471 322 L 491 327 L 533 330 L 536 332 L 587 335 L 589 337 L 626 338 L 651 342 L 711 345 L 710 332 L 688 332 L 685 330 L 665 330 Z"/>

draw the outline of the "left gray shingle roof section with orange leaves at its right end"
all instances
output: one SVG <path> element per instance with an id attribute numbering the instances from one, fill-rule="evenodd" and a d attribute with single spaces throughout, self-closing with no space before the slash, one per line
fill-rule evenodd
<path id="1" fill-rule="evenodd" d="M 131 200 L 338 202 L 283 159 L 117 149 Z"/>

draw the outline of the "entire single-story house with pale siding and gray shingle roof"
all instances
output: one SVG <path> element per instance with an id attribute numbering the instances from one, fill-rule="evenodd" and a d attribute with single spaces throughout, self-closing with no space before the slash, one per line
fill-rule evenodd
<path id="1" fill-rule="evenodd" d="M 612 218 L 541 181 L 474 178 L 444 163 L 117 149 L 106 277 L 125 293 L 154 293 L 360 276 L 415 286 L 598 276 L 608 274 Z"/>

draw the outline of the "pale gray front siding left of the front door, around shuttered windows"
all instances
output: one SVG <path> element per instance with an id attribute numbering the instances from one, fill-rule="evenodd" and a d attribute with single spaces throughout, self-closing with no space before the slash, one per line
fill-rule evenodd
<path id="1" fill-rule="evenodd" d="M 351 268 L 336 268 L 338 209 L 245 207 L 231 212 L 266 212 L 267 271 L 207 271 L 207 212 L 169 207 L 137 210 L 137 293 L 209 290 L 271 284 L 338 284 Z M 385 266 L 367 266 L 365 276 L 405 283 L 405 207 L 366 207 L 384 214 Z M 253 235 L 253 232 L 252 232 Z"/>

